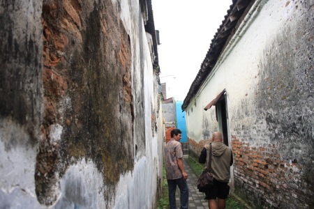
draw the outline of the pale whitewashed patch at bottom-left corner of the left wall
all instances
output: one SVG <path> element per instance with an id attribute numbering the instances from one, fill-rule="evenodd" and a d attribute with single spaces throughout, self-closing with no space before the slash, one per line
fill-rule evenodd
<path id="1" fill-rule="evenodd" d="M 8 118 L 0 124 L 0 208 L 44 208 L 35 192 L 37 150 L 27 144 L 30 139 L 21 125 Z M 15 140 L 15 148 L 8 139 Z"/>

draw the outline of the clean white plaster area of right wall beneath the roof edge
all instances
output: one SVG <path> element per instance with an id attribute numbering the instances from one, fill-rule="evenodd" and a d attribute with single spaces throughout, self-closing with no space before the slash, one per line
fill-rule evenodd
<path id="1" fill-rule="evenodd" d="M 268 46 L 276 42 L 280 33 L 293 28 L 297 22 L 292 20 L 296 18 L 296 15 L 301 15 L 293 8 L 293 3 L 287 6 L 286 4 L 287 1 L 283 0 L 255 2 L 248 15 L 250 17 L 246 18 L 246 22 L 242 22 L 240 26 L 242 29 L 234 35 L 211 74 L 186 109 L 186 123 L 190 139 L 195 141 L 207 139 L 203 134 L 204 127 L 211 132 L 221 131 L 216 122 L 216 107 L 212 106 L 207 111 L 204 111 L 204 107 L 224 88 L 227 91 L 229 118 L 239 117 L 235 116 L 237 109 L 247 109 L 246 111 L 251 111 L 252 117 L 241 118 L 241 123 L 248 126 L 256 122 L 256 118 L 253 117 L 257 108 L 255 105 L 256 88 L 260 77 L 266 79 L 271 76 L 260 75 L 260 61 L 268 59 L 264 57 Z M 196 107 L 194 101 L 196 101 Z M 236 121 L 228 120 L 228 123 L 228 129 L 232 132 Z M 266 121 L 259 121 L 259 123 L 260 128 L 266 127 Z M 231 139 L 230 134 L 229 139 Z M 260 144 L 264 139 L 260 138 L 255 141 Z"/>

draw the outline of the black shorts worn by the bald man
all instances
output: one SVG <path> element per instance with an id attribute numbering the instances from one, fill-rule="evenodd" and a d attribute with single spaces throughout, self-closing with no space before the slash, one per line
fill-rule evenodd
<path id="1" fill-rule="evenodd" d="M 214 185 L 205 192 L 205 199 L 227 199 L 230 187 L 227 182 L 220 182 L 214 179 Z"/>

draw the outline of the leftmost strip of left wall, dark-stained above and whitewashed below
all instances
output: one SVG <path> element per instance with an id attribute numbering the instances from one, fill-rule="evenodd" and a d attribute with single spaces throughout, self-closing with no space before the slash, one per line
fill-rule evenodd
<path id="1" fill-rule="evenodd" d="M 0 208 L 33 208 L 43 123 L 42 3 L 13 2 L 0 5 Z"/>

